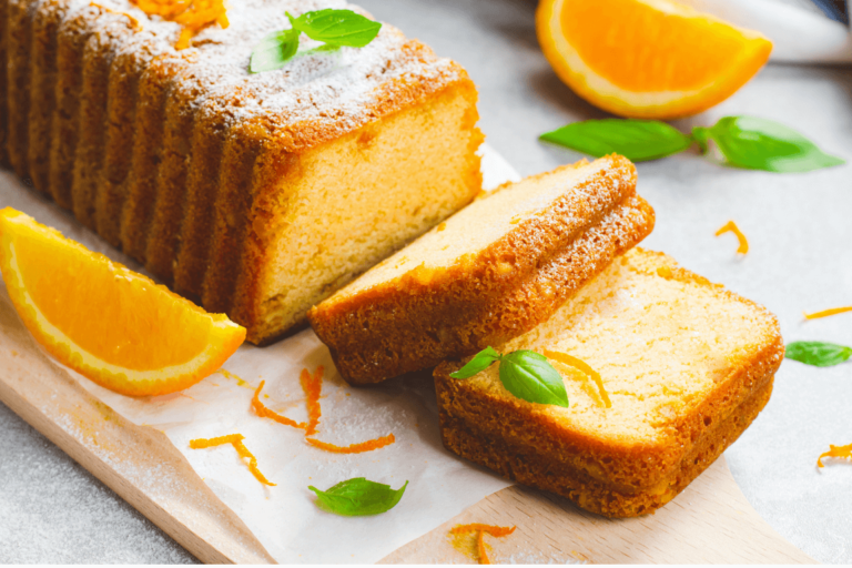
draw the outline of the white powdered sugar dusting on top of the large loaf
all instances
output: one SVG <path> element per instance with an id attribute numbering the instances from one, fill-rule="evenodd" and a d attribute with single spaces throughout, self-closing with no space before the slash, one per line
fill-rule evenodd
<path id="1" fill-rule="evenodd" d="M 75 7 L 88 4 L 84 0 L 74 1 Z M 351 130 L 372 118 L 382 100 L 383 85 L 394 81 L 449 82 L 459 73 L 452 61 L 436 58 L 426 48 L 404 49 L 405 36 L 389 24 L 383 24 L 378 36 L 364 48 L 317 49 L 323 44 L 303 34 L 300 53 L 284 68 L 248 72 L 251 53 L 260 41 L 273 31 L 290 29 L 285 12 L 297 17 L 334 8 L 365 13 L 343 0 L 231 0 L 229 28 L 211 26 L 195 36 L 191 48 L 182 51 L 173 48 L 180 26 L 146 16 L 130 0 L 103 0 L 100 6 L 116 13 L 91 17 L 92 26 L 102 26 L 102 19 L 135 19 L 140 30 L 122 41 L 134 49 L 144 43 L 155 54 L 184 60 L 187 65 L 176 83 L 187 90 L 191 84 L 200 88 L 200 94 L 189 101 L 191 108 L 210 98 L 221 98 L 223 105 L 231 108 L 229 115 L 233 120 L 265 116 L 278 128 L 320 121 L 338 132 Z M 115 47 L 126 49 L 123 44 Z M 237 91 L 240 95 L 234 97 Z"/>

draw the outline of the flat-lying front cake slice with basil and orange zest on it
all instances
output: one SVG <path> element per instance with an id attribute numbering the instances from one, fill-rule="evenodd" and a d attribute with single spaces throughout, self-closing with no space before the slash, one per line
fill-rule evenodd
<path id="1" fill-rule="evenodd" d="M 607 517 L 651 513 L 683 490 L 765 406 L 784 355 L 772 314 L 641 248 L 494 347 L 546 355 L 569 406 L 514 397 L 497 364 L 456 379 L 462 362 L 445 362 L 434 373 L 444 445 Z"/>

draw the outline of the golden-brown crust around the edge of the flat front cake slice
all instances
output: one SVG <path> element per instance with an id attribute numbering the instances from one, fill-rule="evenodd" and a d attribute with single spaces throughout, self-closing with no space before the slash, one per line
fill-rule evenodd
<path id="1" fill-rule="evenodd" d="M 510 464 L 499 465 L 500 460 L 506 460 L 505 456 L 510 454 L 506 448 L 514 448 L 511 452 L 524 448 L 526 454 L 546 456 L 539 459 L 538 469 L 528 469 L 518 480 L 523 477 L 523 483 L 557 490 L 580 506 L 608 516 L 638 514 L 640 506 L 645 506 L 642 511 L 648 513 L 661 506 L 665 503 L 661 500 L 665 491 L 659 490 L 661 484 L 670 485 L 671 480 L 679 478 L 678 476 L 681 476 L 682 480 L 684 475 L 691 479 L 709 465 L 708 460 L 704 460 L 703 465 L 689 465 L 687 462 L 693 459 L 689 456 L 698 452 L 696 448 L 702 440 L 709 439 L 708 436 L 717 440 L 712 433 L 720 424 L 730 422 L 742 425 L 743 409 L 747 408 L 743 405 L 753 399 L 767 382 L 771 382 L 784 353 L 778 322 L 755 304 L 707 282 L 701 276 L 679 268 L 670 258 L 659 253 L 637 250 L 630 254 L 629 262 L 622 258 L 622 264 L 641 274 L 710 288 L 719 302 L 748 305 L 760 314 L 760 325 L 767 331 L 755 328 L 751 332 L 754 344 L 750 349 L 753 351 L 749 352 L 742 363 L 729 367 L 726 376 L 714 378 L 709 390 L 701 392 L 700 395 L 682 395 L 674 416 L 655 426 L 655 435 L 651 438 L 625 436 L 620 430 L 619 434 L 610 434 L 606 427 L 588 429 L 567 426 L 558 414 L 539 412 L 540 405 L 499 392 L 483 390 L 471 381 L 450 378 L 449 374 L 463 364 L 445 362 L 434 373 L 442 425 L 464 430 L 460 435 L 449 432 L 445 435 L 448 448 L 463 452 L 465 457 L 496 468 L 504 475 L 517 469 L 517 466 L 513 469 Z M 661 297 L 659 301 L 665 303 L 667 300 Z M 612 339 L 613 352 L 619 351 L 618 342 L 619 339 Z M 625 364 L 629 365 L 629 362 Z M 765 402 L 759 405 L 760 408 L 763 404 Z M 754 409 L 754 414 L 760 408 Z M 751 418 L 746 422 L 750 420 Z M 729 428 L 726 432 L 729 433 L 726 435 L 730 436 L 733 430 Z M 737 435 L 741 429 L 737 430 Z M 458 436 L 467 442 L 457 442 Z M 497 448 L 496 452 L 503 457 L 489 457 L 487 449 L 477 450 L 477 447 L 484 446 L 477 446 L 475 438 L 481 436 L 488 436 Z M 731 442 L 732 439 L 728 439 L 726 447 Z M 718 440 L 708 443 L 708 448 L 711 445 L 714 445 L 713 452 L 718 450 L 717 455 L 723 449 L 719 449 Z M 505 448 L 500 449 L 503 446 Z M 693 466 L 701 467 L 694 469 Z M 690 475 L 692 477 L 689 477 Z M 559 485 L 554 485 L 552 476 L 560 479 L 562 487 L 571 486 L 574 489 L 558 489 Z M 575 479 L 572 485 L 568 483 L 569 479 Z M 686 487 L 686 483 L 678 485 L 678 489 L 669 495 L 676 495 Z M 580 486 L 586 489 L 577 489 Z M 612 491 L 621 494 L 623 498 L 619 497 L 610 503 Z M 645 494 L 645 497 L 636 501 L 623 500 L 627 499 L 625 496 L 638 494 Z"/>

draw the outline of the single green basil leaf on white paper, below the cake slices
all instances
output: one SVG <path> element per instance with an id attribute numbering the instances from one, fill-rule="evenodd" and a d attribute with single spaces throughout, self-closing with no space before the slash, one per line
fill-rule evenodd
<path id="1" fill-rule="evenodd" d="M 396 507 L 403 498 L 408 481 L 399 489 L 389 485 L 377 484 L 364 477 L 355 477 L 321 491 L 313 485 L 308 487 L 316 494 L 321 509 L 345 517 L 378 515 Z"/>

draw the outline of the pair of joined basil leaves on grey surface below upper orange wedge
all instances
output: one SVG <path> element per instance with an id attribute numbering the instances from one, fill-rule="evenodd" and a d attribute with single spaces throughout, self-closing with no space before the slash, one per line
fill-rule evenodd
<path id="1" fill-rule="evenodd" d="M 616 152 L 635 162 L 682 152 L 693 142 L 707 153 L 712 141 L 726 163 L 736 168 L 790 173 L 846 163 L 799 132 L 755 116 L 726 116 L 709 128 L 694 126 L 691 135 L 656 120 L 587 120 L 539 138 L 596 158 Z"/>

